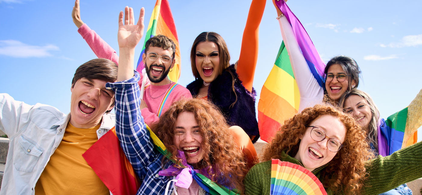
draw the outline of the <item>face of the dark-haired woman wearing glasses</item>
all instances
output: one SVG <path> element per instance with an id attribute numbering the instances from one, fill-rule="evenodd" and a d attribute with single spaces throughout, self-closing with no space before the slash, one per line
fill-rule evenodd
<path id="1" fill-rule="evenodd" d="M 337 75 L 339 73 L 346 74 L 339 64 L 333 64 L 328 68 L 327 74 Z M 341 95 L 343 95 L 349 87 L 349 79 L 350 76 L 346 76 L 346 80 L 338 82 L 337 77 L 334 76 L 332 81 L 325 82 L 325 89 L 327 90 L 328 96 L 338 102 Z M 354 81 L 352 81 L 352 85 L 354 85 Z"/>

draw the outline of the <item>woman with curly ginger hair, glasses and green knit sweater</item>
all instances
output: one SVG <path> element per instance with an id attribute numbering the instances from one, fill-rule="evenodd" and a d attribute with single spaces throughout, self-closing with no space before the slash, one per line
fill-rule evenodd
<path id="1" fill-rule="evenodd" d="M 312 171 L 328 194 L 379 194 L 422 177 L 421 142 L 367 161 L 374 156 L 365 137 L 356 120 L 337 108 L 306 108 L 284 121 L 265 148 L 265 162 L 246 174 L 246 194 L 270 193 L 271 159 L 296 163 Z"/>

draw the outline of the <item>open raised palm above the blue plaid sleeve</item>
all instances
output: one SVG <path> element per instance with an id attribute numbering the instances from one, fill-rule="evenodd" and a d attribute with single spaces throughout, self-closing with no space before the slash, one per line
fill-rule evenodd
<path id="1" fill-rule="evenodd" d="M 124 23 L 123 11 L 119 14 L 119 31 L 117 32 L 117 42 L 120 48 L 135 49 L 138 42 L 143 36 L 143 20 L 145 16 L 145 9 L 141 8 L 139 13 L 138 23 L 135 25 L 135 18 L 133 16 L 133 9 L 129 7 L 124 8 Z"/>

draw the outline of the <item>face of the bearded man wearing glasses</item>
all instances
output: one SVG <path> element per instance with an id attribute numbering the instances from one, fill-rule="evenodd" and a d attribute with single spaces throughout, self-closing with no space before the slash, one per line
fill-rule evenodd
<path id="1" fill-rule="evenodd" d="M 148 47 L 148 51 L 145 51 L 142 55 L 142 61 L 145 64 L 145 71 L 146 75 L 148 75 L 148 79 L 152 83 L 156 83 L 158 85 L 168 84 L 168 81 L 166 81 L 165 78 L 167 78 L 170 68 L 173 68 L 175 60 L 172 58 L 170 62 L 163 63 L 162 58 L 156 56 L 157 60 L 151 61 L 148 57 L 148 55 L 153 55 L 151 53 L 155 53 L 160 56 L 167 55 L 172 57 L 173 50 L 171 48 L 165 50 L 161 47 Z"/>

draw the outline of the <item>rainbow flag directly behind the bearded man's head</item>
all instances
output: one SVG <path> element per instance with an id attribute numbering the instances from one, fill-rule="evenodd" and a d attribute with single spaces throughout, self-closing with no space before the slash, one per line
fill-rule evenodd
<path id="1" fill-rule="evenodd" d="M 180 46 L 179 38 L 177 37 L 176 26 L 173 20 L 173 14 L 171 13 L 168 0 L 157 0 L 155 3 L 154 10 L 151 14 L 151 19 L 149 20 L 148 29 L 146 31 L 142 52 L 141 55 L 139 55 L 136 71 L 142 72 L 142 69 L 144 69 L 145 65 L 142 62 L 142 55 L 145 53 L 146 41 L 158 34 L 167 36 L 173 40 L 174 44 L 176 44 L 176 53 L 174 57 L 176 59 L 176 63 L 174 64 L 173 70 L 168 73 L 168 78 L 173 82 L 177 82 L 179 80 L 181 70 Z"/>

